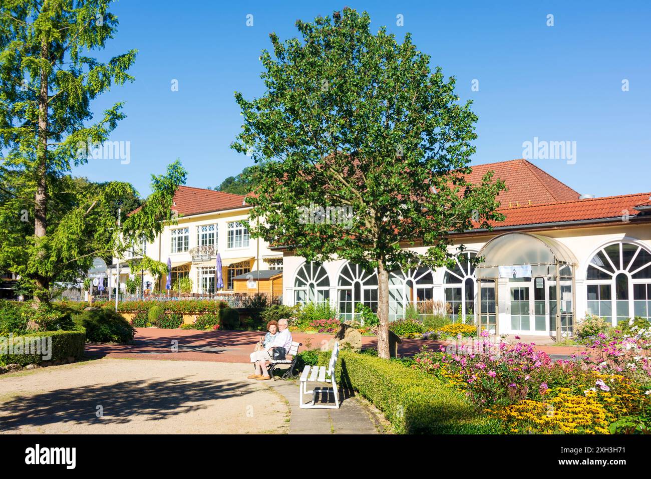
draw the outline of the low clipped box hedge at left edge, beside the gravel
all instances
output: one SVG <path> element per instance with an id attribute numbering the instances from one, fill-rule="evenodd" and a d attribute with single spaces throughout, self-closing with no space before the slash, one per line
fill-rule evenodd
<path id="1" fill-rule="evenodd" d="M 83 357 L 83 348 L 86 342 L 86 333 L 83 331 L 44 331 L 25 334 L 24 336 L 14 336 L 14 348 L 20 341 L 23 341 L 24 344 L 25 338 L 41 338 L 42 336 L 51 336 L 52 338 L 52 357 L 49 358 L 49 361 L 62 360 L 69 356 L 74 356 L 76 359 Z M 19 338 L 22 338 L 22 340 L 19 340 Z M 27 366 L 27 364 L 40 364 L 44 361 L 42 355 L 2 354 L 2 348 L 5 344 L 7 344 L 8 348 L 8 337 L 5 337 L 4 340 L 5 342 L 0 343 L 0 364 L 20 364 L 21 366 Z"/>

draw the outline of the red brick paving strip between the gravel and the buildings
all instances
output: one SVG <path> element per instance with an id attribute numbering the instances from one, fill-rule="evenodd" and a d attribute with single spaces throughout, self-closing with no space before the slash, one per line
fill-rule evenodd
<path id="1" fill-rule="evenodd" d="M 216 362 L 249 362 L 260 332 L 249 331 L 197 331 L 182 329 L 137 328 L 135 344 L 87 344 L 86 355 L 91 357 L 165 359 Z M 306 334 L 293 332 L 294 341 L 303 343 L 301 351 L 321 347 L 327 343 L 331 334 Z M 177 343 L 173 343 L 177 341 Z M 178 352 L 172 351 L 173 344 L 178 344 Z M 375 347 L 375 336 L 362 336 L 365 347 Z M 428 345 L 430 351 L 437 351 L 443 341 L 403 340 L 400 355 L 409 356 L 418 353 L 422 345 Z M 212 351 L 196 351 L 199 348 L 214 348 Z M 571 355 L 583 348 L 575 346 L 538 346 L 539 351 L 550 355 Z M 189 351 L 188 351 L 189 349 Z M 217 350 L 215 350 L 217 349 Z"/>

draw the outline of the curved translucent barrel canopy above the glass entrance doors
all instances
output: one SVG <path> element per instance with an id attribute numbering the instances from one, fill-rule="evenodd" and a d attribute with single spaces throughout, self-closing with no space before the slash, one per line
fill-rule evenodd
<path id="1" fill-rule="evenodd" d="M 531 265 L 532 276 L 555 274 L 556 265 L 574 265 L 574 254 L 561 242 L 531 233 L 499 235 L 478 252 L 484 261 L 478 265 L 482 278 L 499 278 L 499 267 Z M 553 267 L 550 268 L 550 267 Z"/>

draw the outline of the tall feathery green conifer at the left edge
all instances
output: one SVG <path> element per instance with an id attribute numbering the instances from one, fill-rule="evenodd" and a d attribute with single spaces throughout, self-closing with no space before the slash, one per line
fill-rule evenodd
<path id="1" fill-rule="evenodd" d="M 0 5 L 0 267 L 31 282 L 35 300 L 49 283 L 79 278 L 94 255 L 152 237 L 171 218 L 172 197 L 186 172 L 180 162 L 154 177 L 137 214 L 115 211 L 133 193 L 124 182 L 102 186 L 74 179 L 89 143 L 109 138 L 124 117 L 116 103 L 91 123 L 91 100 L 133 81 L 135 50 L 102 62 L 90 56 L 117 32 L 109 0 L 3 0 Z M 113 160 L 115 161 L 115 160 Z"/>

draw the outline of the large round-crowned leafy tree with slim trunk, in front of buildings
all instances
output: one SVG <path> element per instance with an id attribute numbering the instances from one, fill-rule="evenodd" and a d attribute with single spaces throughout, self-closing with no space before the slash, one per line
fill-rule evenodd
<path id="1" fill-rule="evenodd" d="M 492 173 L 466 180 L 477 116 L 458 103 L 454 78 L 432 72 L 409 34 L 400 44 L 369 24 L 344 8 L 296 22 L 300 39 L 272 33 L 266 93 L 235 94 L 243 126 L 232 147 L 260 166 L 253 235 L 308 261 L 337 255 L 377 269 L 378 354 L 388 358 L 389 270 L 450 265 L 449 234 L 500 220 L 504 184 Z M 426 254 L 406 248 L 421 245 Z"/>

